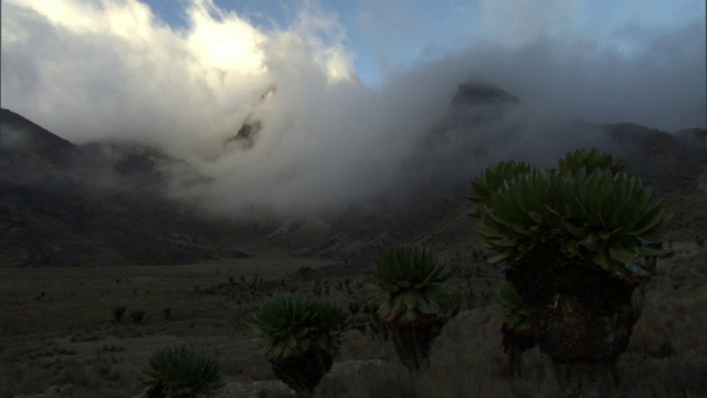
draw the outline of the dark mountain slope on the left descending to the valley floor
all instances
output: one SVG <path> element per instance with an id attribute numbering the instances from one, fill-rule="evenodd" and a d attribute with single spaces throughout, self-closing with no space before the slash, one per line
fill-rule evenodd
<path id="1" fill-rule="evenodd" d="M 146 167 L 151 158 L 115 150 L 107 157 L 7 109 L 0 127 L 0 265 L 169 264 L 245 255 L 218 249 L 232 227 L 160 195 L 159 174 Z"/>

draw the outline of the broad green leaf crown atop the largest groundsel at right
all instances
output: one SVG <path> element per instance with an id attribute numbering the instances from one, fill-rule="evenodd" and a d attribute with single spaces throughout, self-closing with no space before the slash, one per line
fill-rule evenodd
<path id="1" fill-rule="evenodd" d="M 625 279 L 632 271 L 624 264 L 663 253 L 646 243 L 658 241 L 669 219 L 641 179 L 601 167 L 516 175 L 488 196 L 476 217 L 479 235 L 498 253 L 492 262 L 519 260 L 552 237 L 566 254 L 589 258 Z"/>

